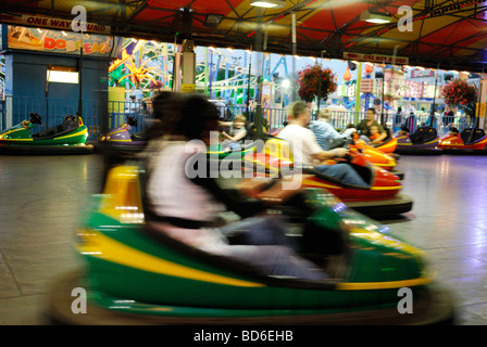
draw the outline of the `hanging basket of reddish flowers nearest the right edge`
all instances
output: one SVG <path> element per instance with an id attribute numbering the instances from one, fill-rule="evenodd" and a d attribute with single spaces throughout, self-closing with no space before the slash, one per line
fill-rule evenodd
<path id="1" fill-rule="evenodd" d="M 444 88 L 445 103 L 450 107 L 458 107 L 469 116 L 475 116 L 477 88 L 463 79 L 455 79 Z"/>

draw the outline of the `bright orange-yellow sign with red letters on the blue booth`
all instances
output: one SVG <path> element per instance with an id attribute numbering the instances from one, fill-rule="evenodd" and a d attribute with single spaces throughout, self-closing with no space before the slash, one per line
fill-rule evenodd
<path id="1" fill-rule="evenodd" d="M 30 50 L 39 52 L 79 54 L 82 47 L 80 34 L 72 31 L 38 30 L 22 26 L 9 25 L 9 49 Z M 108 56 L 113 39 L 109 36 L 83 36 L 83 54 L 91 56 Z"/>

